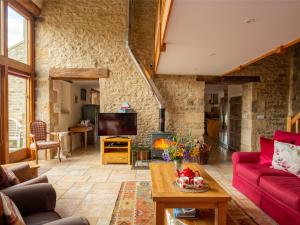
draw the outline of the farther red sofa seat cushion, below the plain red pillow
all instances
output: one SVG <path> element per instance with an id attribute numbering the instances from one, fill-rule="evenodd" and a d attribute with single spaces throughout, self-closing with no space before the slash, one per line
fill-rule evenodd
<path id="1" fill-rule="evenodd" d="M 291 173 L 281 170 L 275 170 L 267 166 L 262 166 L 254 163 L 239 163 L 237 164 L 237 173 L 245 180 L 258 185 L 261 176 L 288 176 L 296 177 Z"/>

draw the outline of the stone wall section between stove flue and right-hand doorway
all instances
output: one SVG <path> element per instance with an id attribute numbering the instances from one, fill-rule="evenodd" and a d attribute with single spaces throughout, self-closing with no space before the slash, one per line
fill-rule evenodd
<path id="1" fill-rule="evenodd" d="M 166 106 L 166 131 L 202 139 L 205 83 L 194 76 L 160 75 L 155 78 Z"/>

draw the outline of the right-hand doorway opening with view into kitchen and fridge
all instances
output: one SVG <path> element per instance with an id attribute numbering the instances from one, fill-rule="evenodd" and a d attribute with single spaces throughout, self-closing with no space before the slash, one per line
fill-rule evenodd
<path id="1" fill-rule="evenodd" d="M 242 85 L 205 86 L 205 136 L 219 146 L 240 150 Z"/>

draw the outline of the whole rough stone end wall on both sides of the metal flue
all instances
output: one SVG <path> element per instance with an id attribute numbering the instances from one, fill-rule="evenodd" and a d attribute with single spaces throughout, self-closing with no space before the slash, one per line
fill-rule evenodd
<path id="1" fill-rule="evenodd" d="M 42 15 L 36 22 L 36 117 L 48 122 L 51 129 L 57 120 L 52 118 L 50 68 L 91 67 L 110 71 L 109 78 L 99 82 L 101 112 L 116 112 L 127 101 L 138 113 L 138 143 L 147 143 L 148 134 L 158 130 L 158 103 L 126 48 L 127 3 L 44 1 Z M 139 49 L 140 61 L 149 65 L 153 60 L 154 33 L 148 33 L 148 28 L 154 20 L 148 19 L 154 6 L 149 8 L 150 2 L 146 0 L 141 3 L 144 10 L 138 11 L 141 15 L 136 24 L 144 28 L 134 32 L 135 50 Z M 156 82 L 166 102 L 167 129 L 187 132 L 191 128 L 196 136 L 202 137 L 204 84 L 186 77 L 159 78 Z"/>

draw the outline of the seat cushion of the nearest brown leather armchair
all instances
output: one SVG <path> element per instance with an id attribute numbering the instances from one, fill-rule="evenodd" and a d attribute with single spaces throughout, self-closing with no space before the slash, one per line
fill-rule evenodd
<path id="1" fill-rule="evenodd" d="M 54 211 L 41 212 L 23 217 L 26 225 L 42 225 L 59 220 L 60 218 L 61 217 Z"/>

